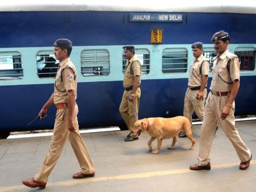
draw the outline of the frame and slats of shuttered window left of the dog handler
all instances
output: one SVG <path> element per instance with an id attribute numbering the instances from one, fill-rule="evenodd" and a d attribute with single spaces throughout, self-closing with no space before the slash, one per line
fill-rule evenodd
<path id="1" fill-rule="evenodd" d="M 83 59 L 83 54 L 85 54 L 85 51 L 88 51 L 88 52 L 93 51 L 93 53 L 90 53 L 90 54 L 93 54 L 93 59 L 92 59 L 92 61 L 90 60 L 90 66 L 83 66 L 83 65 L 88 65 L 86 63 L 83 63 L 83 61 L 86 62 L 86 60 Z M 105 51 L 107 54 L 100 55 L 100 53 L 99 53 L 99 59 L 98 59 L 97 51 L 99 51 L 99 52 Z M 96 58 L 95 58 L 95 55 L 96 55 Z M 102 57 L 103 58 L 106 57 L 107 59 L 101 60 Z M 99 60 L 99 62 L 98 62 L 98 60 Z M 83 49 L 80 54 L 80 66 L 81 66 L 81 74 L 85 78 L 87 78 L 87 77 L 107 77 L 110 75 L 110 66 L 111 66 L 110 65 L 110 52 L 108 51 L 108 49 Z M 87 74 L 86 74 L 86 71 L 84 70 L 86 68 L 91 69 L 91 71 L 89 71 L 89 73 L 87 73 Z M 93 74 L 90 74 L 90 73 L 93 73 Z"/>

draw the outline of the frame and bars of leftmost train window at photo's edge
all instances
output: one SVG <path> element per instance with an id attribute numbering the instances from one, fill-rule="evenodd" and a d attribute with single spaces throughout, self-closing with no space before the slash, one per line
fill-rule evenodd
<path id="1" fill-rule="evenodd" d="M 12 60 L 11 63 L 1 63 L 1 60 Z M 19 62 L 15 60 L 19 59 Z M 3 68 L 2 65 L 9 65 L 9 68 Z M 11 66 L 12 65 L 12 66 Z M 15 67 L 14 65 L 18 65 Z M 1 69 L 2 68 L 2 69 Z M 3 71 L 8 71 L 7 73 L 2 73 Z M 13 73 L 15 72 L 16 73 Z M 16 77 L 15 77 L 16 76 Z M 19 51 L 1 51 L 0 52 L 0 80 L 21 80 L 24 77 L 23 73 L 23 57 Z"/>

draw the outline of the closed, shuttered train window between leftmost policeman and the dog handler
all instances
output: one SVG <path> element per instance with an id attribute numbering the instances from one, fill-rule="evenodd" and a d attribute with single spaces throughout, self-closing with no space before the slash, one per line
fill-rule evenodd
<path id="1" fill-rule="evenodd" d="M 85 49 L 81 52 L 81 73 L 84 77 L 108 76 L 110 55 L 107 49 Z"/>

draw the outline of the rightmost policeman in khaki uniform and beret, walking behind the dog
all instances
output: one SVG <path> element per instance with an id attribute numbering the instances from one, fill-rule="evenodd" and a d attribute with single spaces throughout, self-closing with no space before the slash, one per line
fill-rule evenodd
<path id="1" fill-rule="evenodd" d="M 218 55 L 213 59 L 213 78 L 210 93 L 205 104 L 204 121 L 201 128 L 197 164 L 191 170 L 210 170 L 210 149 L 219 122 L 225 135 L 229 138 L 236 154 L 241 160 L 240 169 L 247 169 L 252 154 L 241 140 L 235 128 L 235 97 L 240 87 L 240 60 L 227 50 L 229 34 L 223 30 L 216 32 L 212 41 Z"/>

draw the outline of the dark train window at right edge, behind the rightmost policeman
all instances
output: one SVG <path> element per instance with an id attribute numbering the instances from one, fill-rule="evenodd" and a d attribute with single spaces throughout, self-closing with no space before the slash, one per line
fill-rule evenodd
<path id="1" fill-rule="evenodd" d="M 241 60 L 241 71 L 254 71 L 255 69 L 255 48 L 236 48 L 235 54 Z"/>

